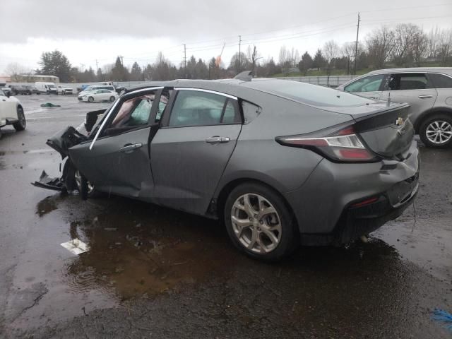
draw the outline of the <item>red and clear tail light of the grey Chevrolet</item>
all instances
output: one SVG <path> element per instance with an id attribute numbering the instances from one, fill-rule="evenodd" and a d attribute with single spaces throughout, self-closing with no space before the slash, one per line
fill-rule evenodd
<path id="1" fill-rule="evenodd" d="M 280 136 L 276 138 L 276 141 L 285 146 L 314 150 L 314 152 L 334 162 L 371 162 L 376 160 L 375 156 L 363 145 L 353 126 L 340 129 L 328 136 Z"/>

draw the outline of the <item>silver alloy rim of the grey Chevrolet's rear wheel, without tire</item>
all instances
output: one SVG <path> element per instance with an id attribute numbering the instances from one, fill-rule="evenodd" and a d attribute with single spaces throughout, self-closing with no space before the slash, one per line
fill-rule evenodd
<path id="1" fill-rule="evenodd" d="M 268 253 L 281 239 L 281 220 L 273 205 L 258 194 L 239 196 L 232 205 L 232 230 L 249 251 Z"/>

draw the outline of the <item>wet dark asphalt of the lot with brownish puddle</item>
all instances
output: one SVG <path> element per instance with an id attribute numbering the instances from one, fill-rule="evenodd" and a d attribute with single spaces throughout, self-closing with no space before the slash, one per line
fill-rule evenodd
<path id="1" fill-rule="evenodd" d="M 432 320 L 452 313 L 451 149 L 420 145 L 415 206 L 367 244 L 267 264 L 212 220 L 31 186 L 59 176 L 47 138 L 109 104 L 19 99 L 27 129 L 0 138 L 0 338 L 452 338 Z M 60 245 L 75 238 L 89 251 Z"/>

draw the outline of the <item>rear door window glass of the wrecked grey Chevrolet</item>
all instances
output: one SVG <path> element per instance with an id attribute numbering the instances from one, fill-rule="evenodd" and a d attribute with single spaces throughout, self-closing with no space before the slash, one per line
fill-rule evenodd
<path id="1" fill-rule="evenodd" d="M 169 117 L 169 126 L 207 126 L 234 122 L 237 122 L 236 110 L 231 99 L 195 90 L 180 90 L 177 93 Z"/>

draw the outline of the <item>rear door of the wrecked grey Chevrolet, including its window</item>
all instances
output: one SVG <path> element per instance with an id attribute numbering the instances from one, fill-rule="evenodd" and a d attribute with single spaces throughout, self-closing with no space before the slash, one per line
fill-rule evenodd
<path id="1" fill-rule="evenodd" d="M 179 88 L 150 145 L 158 203 L 205 214 L 242 129 L 237 97 Z"/>

